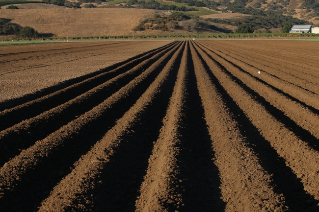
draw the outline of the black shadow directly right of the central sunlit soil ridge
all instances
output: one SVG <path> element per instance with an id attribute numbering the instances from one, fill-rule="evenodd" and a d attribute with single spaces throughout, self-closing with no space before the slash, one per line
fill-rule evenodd
<path id="1" fill-rule="evenodd" d="M 211 136 L 204 119 L 204 108 L 198 93 L 194 65 L 188 48 L 189 70 L 186 82 L 186 107 L 183 112 L 181 126 L 181 152 L 177 156 L 183 188 L 182 194 L 185 207 L 181 212 L 223 212 L 226 203 L 221 199 L 220 178 L 217 166 L 213 163 L 214 152 Z M 185 191 L 183 191 L 185 189 Z M 169 211 L 174 211 L 175 207 Z"/>

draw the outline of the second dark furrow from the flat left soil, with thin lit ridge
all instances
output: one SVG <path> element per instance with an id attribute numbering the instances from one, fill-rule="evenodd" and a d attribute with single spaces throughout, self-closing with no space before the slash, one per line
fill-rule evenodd
<path id="1" fill-rule="evenodd" d="M 99 71 L 100 74 L 85 79 L 79 83 L 72 84 L 67 88 L 54 92 L 53 94 L 45 95 L 23 105 L 4 110 L 0 113 L 0 130 L 6 129 L 22 120 L 37 116 L 44 111 L 63 104 L 64 102 L 67 102 L 70 99 L 99 86 L 107 80 L 133 69 L 133 67 L 138 66 L 142 62 L 145 66 L 150 66 L 157 60 L 155 55 L 165 54 L 168 50 L 174 47 L 174 45 L 170 45 L 169 47 L 170 48 L 162 47 L 148 54 L 141 55 L 141 57 L 131 58 L 131 60 L 128 60 L 126 64 L 117 67 L 112 66 L 112 69 L 106 68 L 101 70 Z"/>

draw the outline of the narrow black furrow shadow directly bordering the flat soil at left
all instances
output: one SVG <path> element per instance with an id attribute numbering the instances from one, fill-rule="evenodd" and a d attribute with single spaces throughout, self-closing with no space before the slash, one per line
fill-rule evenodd
<path id="1" fill-rule="evenodd" d="M 48 95 L 48 94 L 52 94 L 52 93 L 54 93 L 54 92 L 56 92 L 56 91 L 62 90 L 62 89 L 64 89 L 64 88 L 67 88 L 67 87 L 69 87 L 69 86 L 71 86 L 71 85 L 73 85 L 73 84 L 80 83 L 81 81 L 84 81 L 84 80 L 89 79 L 89 78 L 91 78 L 91 77 L 97 76 L 97 75 L 99 75 L 99 74 L 101 74 L 101 73 L 105 73 L 105 72 L 111 71 L 111 70 L 113 70 L 113 69 L 116 69 L 116 68 L 118 68 L 118 67 L 120 67 L 120 66 L 122 66 L 122 65 L 125 65 L 126 63 L 131 62 L 131 61 L 134 60 L 134 59 L 141 58 L 141 57 L 147 55 L 148 53 L 151 53 L 151 52 L 152 52 L 152 55 L 148 56 L 148 58 L 149 58 L 149 57 L 153 56 L 154 54 L 156 54 L 157 52 L 159 52 L 161 49 L 165 49 L 165 48 L 174 46 L 174 45 L 176 45 L 176 43 L 177 43 L 177 42 L 173 42 L 173 43 L 167 44 L 167 45 L 165 45 L 165 46 L 163 46 L 163 47 L 159 47 L 159 48 L 156 48 L 156 49 L 149 50 L 149 51 L 147 51 L 147 52 L 138 54 L 138 55 L 136 55 L 136 56 L 134 56 L 134 57 L 132 57 L 132 58 L 129 58 L 129 59 L 127 59 L 127 60 L 124 60 L 124 61 L 122 61 L 122 62 L 119 62 L 119 63 L 113 64 L 113 65 L 111 65 L 111 66 L 108 66 L 108 67 L 106 67 L 106 68 L 104 68 L 104 69 L 100 69 L 99 71 L 95 71 L 95 72 L 93 72 L 93 73 L 89 73 L 89 74 L 86 74 L 86 75 L 83 75 L 83 76 L 80 76 L 80 77 L 77 77 L 77 78 L 73 78 L 73 79 L 66 80 L 66 81 L 61 82 L 60 84 L 58 84 L 58 85 L 56 85 L 56 86 L 52 86 L 52 87 L 49 87 L 49 88 L 45 88 L 45 89 L 43 89 L 43 90 L 41 90 L 41 91 L 38 91 L 38 92 L 36 92 L 36 93 L 34 93 L 34 94 L 27 94 L 27 95 L 22 96 L 22 97 L 19 97 L 19 98 L 10 99 L 10 100 L 1 102 L 1 103 L 0 103 L 0 111 L 3 111 L 3 110 L 5 110 L 5 109 L 9 109 L 9 108 L 13 108 L 13 107 L 15 107 L 15 106 L 18 106 L 18 105 L 27 103 L 28 101 L 35 100 L 35 99 L 37 99 L 37 98 L 43 97 L 43 96 Z M 136 66 L 137 64 L 141 63 L 141 62 L 144 61 L 144 60 L 145 60 L 145 58 L 140 59 L 140 60 L 137 60 L 134 64 L 132 64 L 132 65 L 130 65 L 130 67 L 128 67 L 128 70 L 131 69 L 131 68 L 133 68 L 133 66 Z M 98 82 L 97 82 L 97 83 L 98 83 Z M 86 86 L 87 86 L 87 85 L 85 85 L 83 89 L 87 91 L 87 90 L 89 90 L 89 89 L 87 89 Z M 92 87 L 92 88 L 93 88 L 93 87 Z M 56 105 L 56 106 L 57 106 L 57 105 L 61 104 L 61 102 L 65 102 L 66 100 L 63 100 L 64 98 L 66 98 L 66 99 L 72 99 L 73 97 L 70 98 L 70 97 L 68 97 L 68 96 L 69 96 L 69 95 L 70 95 L 70 96 L 74 96 L 74 95 L 76 96 L 76 95 L 81 94 L 80 92 L 77 92 L 78 89 L 79 89 L 79 88 L 76 88 L 75 91 L 72 91 L 72 92 L 75 92 L 76 94 L 66 93 L 66 94 L 64 94 L 64 97 L 57 97 L 57 99 L 55 99 L 55 100 L 49 100 L 50 102 L 47 102 L 47 103 L 45 103 L 45 102 L 42 103 L 42 102 L 41 102 L 41 105 L 38 106 L 38 107 L 36 108 L 36 110 L 40 110 L 40 113 L 41 113 L 41 111 L 43 112 L 43 111 L 48 110 L 48 108 L 52 108 L 53 105 Z M 60 98 L 61 98 L 63 101 L 60 100 Z M 59 103 L 56 103 L 55 101 L 57 101 L 57 102 L 59 102 Z M 44 106 L 42 106 L 42 104 L 45 105 L 45 108 L 44 108 L 44 109 L 43 109 Z M 53 105 L 51 105 L 51 104 L 53 104 Z M 30 110 L 30 113 L 33 114 L 34 112 L 32 112 L 32 110 Z M 39 114 L 39 113 L 37 113 L 37 114 Z M 16 115 L 16 116 L 17 116 L 17 115 Z M 33 115 L 33 116 L 34 116 L 34 115 Z M 13 116 L 13 118 L 14 118 L 14 117 L 15 117 L 15 116 Z M 29 117 L 32 117 L 32 116 L 29 116 Z M 26 119 L 26 118 L 24 118 L 24 119 Z M 24 119 L 22 119 L 22 120 L 24 120 Z M 0 123 L 1 123 L 1 121 L 0 121 Z M 6 125 L 8 125 L 8 124 L 6 124 Z M 11 124 L 11 125 L 12 125 L 12 124 Z M 11 125 L 10 125 L 10 126 L 11 126 Z M 7 127 L 8 127 L 8 126 L 7 126 Z M 0 129 L 3 130 L 3 126 L 1 126 Z"/>

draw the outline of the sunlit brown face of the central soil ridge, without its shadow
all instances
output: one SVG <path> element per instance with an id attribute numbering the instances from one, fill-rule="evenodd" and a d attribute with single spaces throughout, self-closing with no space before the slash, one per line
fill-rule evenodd
<path id="1" fill-rule="evenodd" d="M 183 107 L 186 99 L 185 78 L 187 45 L 183 52 L 177 81 L 170 98 L 163 127 L 160 129 L 159 139 L 154 142 L 152 155 L 149 158 L 144 182 L 140 188 L 140 196 L 136 201 L 137 212 L 160 212 L 165 209 L 172 211 L 184 206 L 181 192 L 176 188 L 178 179 L 178 165 L 176 155 L 179 154 L 179 124 L 182 122 Z M 182 182 L 182 180 L 180 179 Z M 179 185 L 180 186 L 180 185 Z M 179 187 L 178 186 L 178 187 Z M 178 205 L 177 205 L 178 203 Z"/>

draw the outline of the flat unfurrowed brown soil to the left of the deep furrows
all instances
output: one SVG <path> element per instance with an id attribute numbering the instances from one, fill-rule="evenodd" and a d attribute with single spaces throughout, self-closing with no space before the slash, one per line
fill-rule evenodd
<path id="1" fill-rule="evenodd" d="M 0 46 L 0 102 L 34 94 L 164 44 L 100 41 Z"/>

